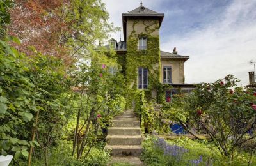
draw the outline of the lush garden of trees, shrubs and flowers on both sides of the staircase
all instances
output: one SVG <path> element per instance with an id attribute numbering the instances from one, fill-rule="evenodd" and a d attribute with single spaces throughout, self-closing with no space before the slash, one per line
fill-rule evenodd
<path id="1" fill-rule="evenodd" d="M 129 89 L 116 53 L 95 50 L 118 30 L 104 4 L 4 0 L 0 6 L 1 155 L 13 155 L 10 165 L 108 165 L 107 129 L 127 109 Z M 237 83 L 227 75 L 170 102 L 136 91 L 141 161 L 256 165 L 256 90 Z M 186 134 L 172 137 L 174 124 Z"/>

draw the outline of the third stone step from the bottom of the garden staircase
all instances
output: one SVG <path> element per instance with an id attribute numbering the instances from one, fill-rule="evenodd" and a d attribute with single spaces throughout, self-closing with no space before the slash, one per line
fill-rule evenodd
<path id="1" fill-rule="evenodd" d="M 140 135 L 140 133 L 140 127 L 108 128 L 108 135 Z"/>

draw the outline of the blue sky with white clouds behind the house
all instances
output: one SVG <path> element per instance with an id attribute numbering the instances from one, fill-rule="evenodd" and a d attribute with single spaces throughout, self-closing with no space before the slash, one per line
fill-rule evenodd
<path id="1" fill-rule="evenodd" d="M 122 13 L 139 0 L 102 0 L 109 21 L 122 27 Z M 248 84 L 250 60 L 256 61 L 256 0 L 144 0 L 143 6 L 164 13 L 161 50 L 190 56 L 184 63 L 185 82 L 214 82 L 233 74 Z M 111 34 L 119 40 L 118 32 Z"/>

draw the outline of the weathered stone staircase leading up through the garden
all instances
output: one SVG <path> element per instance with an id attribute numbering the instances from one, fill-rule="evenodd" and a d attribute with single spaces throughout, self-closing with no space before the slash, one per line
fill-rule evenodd
<path id="1" fill-rule="evenodd" d="M 120 157 L 132 160 L 132 157 L 138 157 L 141 154 L 140 121 L 136 118 L 133 110 L 127 110 L 124 114 L 113 119 L 113 127 L 108 128 L 106 140 L 105 149 L 110 149 L 111 155 L 114 158 L 119 158 L 118 160 Z M 142 165 L 142 163 L 136 165 Z"/>

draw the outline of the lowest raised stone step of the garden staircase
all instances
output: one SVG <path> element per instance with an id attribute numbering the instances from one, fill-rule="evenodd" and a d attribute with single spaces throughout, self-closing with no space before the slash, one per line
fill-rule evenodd
<path id="1" fill-rule="evenodd" d="M 140 145 L 107 145 L 105 149 L 111 150 L 112 156 L 140 156 L 142 152 Z"/>

